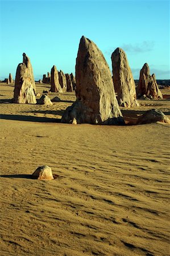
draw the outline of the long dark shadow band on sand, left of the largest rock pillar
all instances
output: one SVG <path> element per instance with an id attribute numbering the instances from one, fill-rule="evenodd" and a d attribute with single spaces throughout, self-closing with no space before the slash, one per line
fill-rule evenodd
<path id="1" fill-rule="evenodd" d="M 60 123 L 60 118 L 47 118 L 47 117 L 31 117 L 30 115 L 7 115 L 1 114 L 1 119 L 6 120 L 18 120 L 18 121 L 28 121 L 28 122 L 45 122 L 45 123 Z"/>

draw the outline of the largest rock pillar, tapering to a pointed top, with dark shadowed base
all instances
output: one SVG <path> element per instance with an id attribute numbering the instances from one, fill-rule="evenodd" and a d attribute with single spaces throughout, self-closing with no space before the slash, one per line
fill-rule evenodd
<path id="1" fill-rule="evenodd" d="M 76 102 L 68 107 L 61 122 L 124 124 L 115 97 L 109 65 L 91 40 L 82 36 L 76 59 Z"/>

